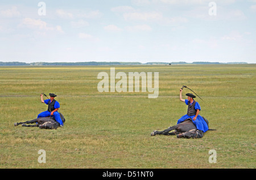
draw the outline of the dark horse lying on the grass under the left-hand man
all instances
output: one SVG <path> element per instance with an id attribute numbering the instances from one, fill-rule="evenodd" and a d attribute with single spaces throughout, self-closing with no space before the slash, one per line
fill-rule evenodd
<path id="1" fill-rule="evenodd" d="M 61 113 L 60 113 L 60 119 L 62 120 L 63 123 L 65 123 L 65 118 Z M 37 123 L 37 124 L 27 125 L 32 123 Z M 60 127 L 60 123 L 56 122 L 56 120 L 53 119 L 52 116 L 48 116 L 45 118 L 36 118 L 33 120 L 28 120 L 26 122 L 14 123 L 14 126 L 17 126 L 20 124 L 22 124 L 22 127 L 39 127 L 41 129 L 57 129 L 58 127 Z"/>

